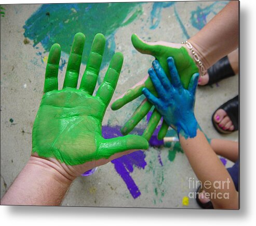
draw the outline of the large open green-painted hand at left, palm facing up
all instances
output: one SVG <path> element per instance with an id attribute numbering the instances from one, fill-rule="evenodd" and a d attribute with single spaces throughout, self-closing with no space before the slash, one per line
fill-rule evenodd
<path id="1" fill-rule="evenodd" d="M 138 135 L 104 139 L 102 120 L 118 81 L 123 65 L 122 53 L 112 57 L 103 83 L 92 96 L 100 71 L 105 37 L 93 40 L 87 66 L 77 88 L 85 36 L 74 37 L 63 88 L 58 90 L 58 69 L 61 49 L 53 44 L 45 73 L 44 95 L 37 112 L 32 135 L 32 155 L 54 158 L 65 165 L 83 165 L 83 173 L 97 165 L 120 157 L 131 149 L 147 149 L 147 141 Z M 126 151 L 126 152 L 125 152 Z M 117 154 L 119 153 L 119 154 Z M 77 168 L 76 168 L 77 169 Z"/>

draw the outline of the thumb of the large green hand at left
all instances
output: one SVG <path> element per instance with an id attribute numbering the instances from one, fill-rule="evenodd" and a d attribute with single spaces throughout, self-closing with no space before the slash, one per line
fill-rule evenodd
<path id="1" fill-rule="evenodd" d="M 105 139 L 100 143 L 98 158 L 110 158 L 112 155 L 132 149 L 147 149 L 149 143 L 139 135 L 126 135 L 112 139 Z"/>

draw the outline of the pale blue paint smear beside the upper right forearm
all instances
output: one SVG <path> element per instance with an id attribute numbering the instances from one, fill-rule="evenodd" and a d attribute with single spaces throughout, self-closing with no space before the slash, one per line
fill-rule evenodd
<path id="1" fill-rule="evenodd" d="M 207 24 L 209 14 L 212 12 L 216 15 L 228 2 L 229 1 L 217 1 L 203 9 L 198 6 L 196 10 L 191 12 L 191 24 L 200 30 Z"/>

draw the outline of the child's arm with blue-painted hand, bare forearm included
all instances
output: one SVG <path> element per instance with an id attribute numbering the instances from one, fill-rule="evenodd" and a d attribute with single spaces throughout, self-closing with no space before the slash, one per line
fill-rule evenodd
<path id="1" fill-rule="evenodd" d="M 216 195 L 209 197 L 214 208 L 237 209 L 238 193 L 233 180 L 209 145 L 204 133 L 200 131 L 194 115 L 195 92 L 199 74 L 195 73 L 188 89 L 184 89 L 173 58 L 169 57 L 167 63 L 171 82 L 158 61 L 153 62 L 154 69 L 149 69 L 150 78 L 159 98 L 146 88 L 142 92 L 163 115 L 168 125 L 177 131 L 182 149 L 204 190 L 209 194 L 213 192 Z M 228 194 L 228 199 L 223 198 L 226 197 L 224 194 Z"/>

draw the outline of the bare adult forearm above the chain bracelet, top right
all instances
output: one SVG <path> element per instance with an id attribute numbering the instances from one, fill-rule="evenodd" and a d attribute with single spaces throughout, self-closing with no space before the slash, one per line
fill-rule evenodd
<path id="1" fill-rule="evenodd" d="M 234 51 L 239 43 L 239 2 L 228 3 L 190 41 L 206 68 Z"/>

